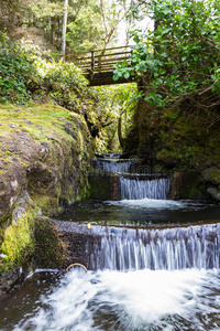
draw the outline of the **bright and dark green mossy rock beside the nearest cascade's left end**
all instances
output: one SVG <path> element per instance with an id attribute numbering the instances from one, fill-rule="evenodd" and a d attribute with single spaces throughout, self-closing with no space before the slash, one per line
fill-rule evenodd
<path id="1" fill-rule="evenodd" d="M 28 266 L 32 259 L 37 267 L 62 267 L 67 258 L 65 242 L 50 218 L 38 217 L 36 210 L 13 222 L 4 232 L 0 252 L 3 276 L 19 266 Z"/>

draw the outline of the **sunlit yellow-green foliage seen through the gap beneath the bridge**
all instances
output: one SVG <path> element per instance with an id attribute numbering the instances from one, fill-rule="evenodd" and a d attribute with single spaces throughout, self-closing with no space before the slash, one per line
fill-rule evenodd
<path id="1" fill-rule="evenodd" d="M 121 149 L 117 129 L 119 118 L 122 117 L 122 130 L 128 135 L 132 128 L 136 100 L 135 84 L 113 86 L 98 86 L 89 90 L 87 103 L 87 124 L 96 138 L 96 150 L 108 152 Z"/>

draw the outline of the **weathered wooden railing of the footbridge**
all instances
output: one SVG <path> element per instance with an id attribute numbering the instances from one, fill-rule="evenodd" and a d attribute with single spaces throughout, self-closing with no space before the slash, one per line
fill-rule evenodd
<path id="1" fill-rule="evenodd" d="M 91 52 L 73 53 L 65 55 L 65 61 L 74 62 L 86 74 L 91 76 L 105 72 L 113 72 L 120 61 L 128 61 L 131 56 L 130 46 L 120 46 Z"/>

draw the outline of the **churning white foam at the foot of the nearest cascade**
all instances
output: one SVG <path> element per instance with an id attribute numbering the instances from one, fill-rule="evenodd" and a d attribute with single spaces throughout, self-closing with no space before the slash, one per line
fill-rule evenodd
<path id="1" fill-rule="evenodd" d="M 219 330 L 219 288 L 217 270 L 72 270 L 14 330 Z"/>

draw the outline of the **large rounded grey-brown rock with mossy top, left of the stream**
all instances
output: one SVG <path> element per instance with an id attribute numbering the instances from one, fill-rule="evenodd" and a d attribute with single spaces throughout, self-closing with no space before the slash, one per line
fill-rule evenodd
<path id="1" fill-rule="evenodd" d="M 76 201 L 86 184 L 91 147 L 84 120 L 52 105 L 44 106 L 44 115 L 34 110 L 37 122 L 32 121 L 31 130 L 25 130 L 23 124 L 22 127 L 16 126 L 28 109 L 20 110 L 20 116 L 13 119 L 13 124 L 10 122 L 9 128 L 15 127 L 15 130 L 3 131 L 0 127 L 1 223 L 11 214 L 15 220 L 31 203 L 36 203 L 45 214 L 52 215 L 61 201 Z M 48 116 L 50 110 L 56 117 Z M 14 114 L 13 107 L 9 116 L 10 113 Z M 38 120 L 45 114 L 47 119 L 38 128 Z M 48 130 L 48 121 L 54 126 L 52 130 Z M 47 129 L 44 129 L 46 125 Z M 37 137 L 37 130 L 42 132 L 41 137 Z"/>

